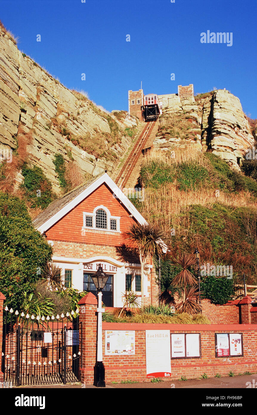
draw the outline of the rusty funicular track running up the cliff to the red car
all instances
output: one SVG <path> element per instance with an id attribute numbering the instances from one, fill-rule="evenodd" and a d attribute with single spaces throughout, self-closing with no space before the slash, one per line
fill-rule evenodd
<path id="1" fill-rule="evenodd" d="M 121 186 L 121 187 L 126 186 L 129 176 L 131 175 L 131 172 L 133 171 L 133 168 L 136 165 L 138 158 L 142 154 L 142 150 L 144 149 L 144 146 L 146 142 L 148 141 L 148 138 L 153 130 L 153 127 L 155 126 L 155 122 L 156 121 L 150 121 L 146 123 L 143 131 L 138 137 L 131 153 L 126 159 L 124 165 L 121 167 L 121 171 L 119 172 L 115 180 L 117 186 Z"/>

